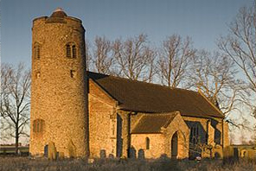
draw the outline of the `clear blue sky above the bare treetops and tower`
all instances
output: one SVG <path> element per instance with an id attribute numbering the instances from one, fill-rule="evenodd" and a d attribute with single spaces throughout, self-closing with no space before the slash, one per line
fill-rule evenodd
<path id="1" fill-rule="evenodd" d="M 82 20 L 86 38 L 96 35 L 110 40 L 147 34 L 157 46 L 172 34 L 189 35 L 195 48 L 216 48 L 220 35 L 227 34 L 240 7 L 253 0 L 2 0 L 2 62 L 30 66 L 31 26 L 38 16 L 50 16 L 57 7 Z"/>

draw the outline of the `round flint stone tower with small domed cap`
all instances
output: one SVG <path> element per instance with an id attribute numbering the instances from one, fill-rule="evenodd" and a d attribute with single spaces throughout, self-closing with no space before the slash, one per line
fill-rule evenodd
<path id="1" fill-rule="evenodd" d="M 85 29 L 56 9 L 32 28 L 31 155 L 88 154 Z M 48 150 L 49 149 L 49 150 Z"/>

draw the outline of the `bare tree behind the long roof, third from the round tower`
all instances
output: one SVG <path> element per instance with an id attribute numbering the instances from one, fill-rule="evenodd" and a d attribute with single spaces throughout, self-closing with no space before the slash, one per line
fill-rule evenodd
<path id="1" fill-rule="evenodd" d="M 160 48 L 157 70 L 163 85 L 176 87 L 186 76 L 189 62 L 195 54 L 192 42 L 187 37 L 171 35 Z"/>

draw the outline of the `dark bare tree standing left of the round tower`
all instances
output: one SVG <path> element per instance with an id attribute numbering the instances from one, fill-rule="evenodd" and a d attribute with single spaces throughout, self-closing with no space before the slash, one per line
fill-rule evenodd
<path id="1" fill-rule="evenodd" d="M 0 114 L 10 136 L 16 139 L 16 154 L 19 138 L 29 136 L 30 72 L 20 64 L 17 68 L 3 64 L 1 67 Z"/>

